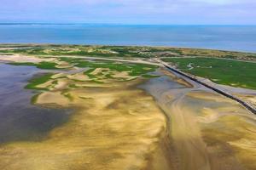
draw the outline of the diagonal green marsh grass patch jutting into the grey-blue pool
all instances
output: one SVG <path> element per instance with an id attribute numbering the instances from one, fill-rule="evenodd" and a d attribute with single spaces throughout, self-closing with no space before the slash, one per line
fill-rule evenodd
<path id="1" fill-rule="evenodd" d="M 37 86 L 43 84 L 44 82 L 48 82 L 52 76 L 52 73 L 47 73 L 40 77 L 34 77 L 29 81 L 29 84 L 27 84 L 25 88 L 36 90 L 48 90 L 48 88 L 38 88 Z"/>

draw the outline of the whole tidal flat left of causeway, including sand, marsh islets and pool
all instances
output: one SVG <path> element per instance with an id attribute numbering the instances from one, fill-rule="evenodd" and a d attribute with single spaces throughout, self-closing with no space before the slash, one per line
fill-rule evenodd
<path id="1" fill-rule="evenodd" d="M 23 55 L 0 65 L 0 169 L 256 168 L 256 118 L 233 100 L 148 60 Z"/>

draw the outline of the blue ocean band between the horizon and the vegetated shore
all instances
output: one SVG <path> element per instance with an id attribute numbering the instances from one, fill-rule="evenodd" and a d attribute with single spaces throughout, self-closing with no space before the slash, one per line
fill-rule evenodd
<path id="1" fill-rule="evenodd" d="M 2 24 L 0 42 L 150 45 L 256 52 L 256 26 Z"/>

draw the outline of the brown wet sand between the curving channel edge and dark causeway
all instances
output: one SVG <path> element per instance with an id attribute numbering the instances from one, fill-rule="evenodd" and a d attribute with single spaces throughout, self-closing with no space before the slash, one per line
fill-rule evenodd
<path id="1" fill-rule="evenodd" d="M 144 88 L 169 119 L 174 169 L 256 168 L 255 116 L 198 84 L 162 90 L 160 82 L 160 86 L 147 83 Z"/>

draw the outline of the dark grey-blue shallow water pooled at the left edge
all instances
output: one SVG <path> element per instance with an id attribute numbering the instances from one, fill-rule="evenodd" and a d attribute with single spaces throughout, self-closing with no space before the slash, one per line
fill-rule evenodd
<path id="1" fill-rule="evenodd" d="M 27 81 L 39 70 L 32 66 L 0 64 L 0 143 L 39 140 L 54 127 L 67 122 L 70 111 L 31 105 Z"/>

